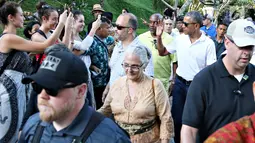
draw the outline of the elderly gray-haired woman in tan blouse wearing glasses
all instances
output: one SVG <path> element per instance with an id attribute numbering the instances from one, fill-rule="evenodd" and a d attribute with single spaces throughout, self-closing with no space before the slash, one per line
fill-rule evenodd
<path id="1" fill-rule="evenodd" d="M 130 47 L 125 53 L 126 76 L 110 88 L 98 110 L 131 136 L 133 143 L 168 143 L 174 136 L 170 104 L 163 84 L 144 74 L 150 58 L 145 47 Z"/>

